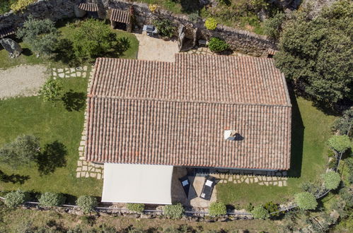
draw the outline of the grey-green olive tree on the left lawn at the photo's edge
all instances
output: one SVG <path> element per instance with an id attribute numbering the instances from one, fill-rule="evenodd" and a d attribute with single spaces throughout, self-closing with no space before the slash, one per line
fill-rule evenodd
<path id="1" fill-rule="evenodd" d="M 0 160 L 11 167 L 29 165 L 40 152 L 39 138 L 31 135 L 18 136 L 15 141 L 0 149 Z"/>

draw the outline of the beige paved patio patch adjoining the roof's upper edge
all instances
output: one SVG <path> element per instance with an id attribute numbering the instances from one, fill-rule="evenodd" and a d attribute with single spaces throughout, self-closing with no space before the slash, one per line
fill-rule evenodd
<path id="1" fill-rule="evenodd" d="M 139 40 L 137 59 L 149 61 L 175 61 L 175 54 L 179 52 L 178 43 L 149 37 L 146 32 L 134 34 Z"/>

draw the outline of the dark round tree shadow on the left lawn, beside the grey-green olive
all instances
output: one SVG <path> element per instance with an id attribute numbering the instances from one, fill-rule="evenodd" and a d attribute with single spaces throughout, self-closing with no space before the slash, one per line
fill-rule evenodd
<path id="1" fill-rule="evenodd" d="M 58 141 L 46 144 L 44 150 L 37 157 L 38 171 L 40 175 L 50 174 L 57 169 L 57 167 L 66 166 L 67 155 L 66 146 Z"/>

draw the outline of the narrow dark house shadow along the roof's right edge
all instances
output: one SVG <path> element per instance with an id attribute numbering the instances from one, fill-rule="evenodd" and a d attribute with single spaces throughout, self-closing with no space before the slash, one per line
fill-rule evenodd
<path id="1" fill-rule="evenodd" d="M 289 90 L 291 97 L 291 167 L 289 177 L 301 177 L 301 163 L 303 162 L 304 125 L 293 90 Z"/>

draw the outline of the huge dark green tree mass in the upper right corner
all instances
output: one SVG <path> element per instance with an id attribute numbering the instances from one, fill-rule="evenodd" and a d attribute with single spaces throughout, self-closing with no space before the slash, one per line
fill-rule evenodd
<path id="1" fill-rule="evenodd" d="M 286 23 L 274 56 L 296 90 L 325 107 L 353 98 L 352 6 L 337 1 L 313 20 L 297 13 Z"/>

